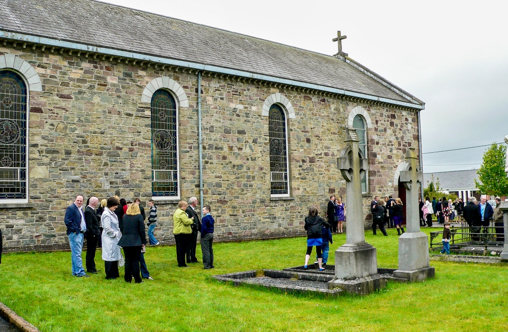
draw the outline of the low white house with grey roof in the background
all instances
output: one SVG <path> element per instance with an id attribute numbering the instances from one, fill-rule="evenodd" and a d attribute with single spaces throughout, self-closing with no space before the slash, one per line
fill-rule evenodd
<path id="1" fill-rule="evenodd" d="M 439 188 L 441 188 L 441 191 L 456 194 L 459 198 L 462 198 L 464 202 L 467 202 L 471 196 L 480 200 L 480 190 L 474 183 L 474 179 L 482 183 L 479 180 L 477 171 L 478 170 L 424 173 L 424 187 L 427 188 L 432 179 L 434 179 L 434 184 L 439 181 Z"/>

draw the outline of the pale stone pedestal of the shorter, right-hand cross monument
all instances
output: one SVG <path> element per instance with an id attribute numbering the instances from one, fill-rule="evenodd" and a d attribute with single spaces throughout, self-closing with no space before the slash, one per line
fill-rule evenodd
<path id="1" fill-rule="evenodd" d="M 399 269 L 393 272 L 394 277 L 423 281 L 434 274 L 434 268 L 429 266 L 427 235 L 422 231 L 402 234 L 399 237 Z"/>

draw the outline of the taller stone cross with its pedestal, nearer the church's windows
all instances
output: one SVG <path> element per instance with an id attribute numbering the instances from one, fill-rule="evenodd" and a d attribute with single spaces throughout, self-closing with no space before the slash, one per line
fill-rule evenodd
<path id="1" fill-rule="evenodd" d="M 347 227 L 346 243 L 335 251 L 335 278 L 356 279 L 377 274 L 376 249 L 365 242 L 362 176 L 368 171 L 367 158 L 360 150 L 356 130 L 346 128 L 337 164 L 346 180 Z M 428 254 L 427 254 L 428 255 Z"/>

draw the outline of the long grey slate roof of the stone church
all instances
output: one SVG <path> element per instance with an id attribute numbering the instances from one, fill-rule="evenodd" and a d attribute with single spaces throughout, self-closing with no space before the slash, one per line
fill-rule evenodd
<path id="1" fill-rule="evenodd" d="M 91 0 L 2 0 L 0 29 L 410 102 L 336 57 Z"/>

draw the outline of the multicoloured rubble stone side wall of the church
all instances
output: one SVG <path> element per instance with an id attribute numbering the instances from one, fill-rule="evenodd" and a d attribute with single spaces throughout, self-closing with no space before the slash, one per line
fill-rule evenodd
<path id="1" fill-rule="evenodd" d="M 66 55 L 0 46 L 38 72 L 43 92 L 29 98 L 29 203 L 4 208 L 0 227 L 6 249 L 65 247 L 63 216 L 80 193 L 126 200 L 151 198 L 150 105 L 141 103 L 146 84 L 169 76 L 184 89 L 189 107 L 180 107 L 180 192 L 199 197 L 197 74 L 153 65 L 109 62 L 92 55 Z M 369 190 L 398 190 L 395 169 L 406 148 L 418 153 L 417 112 L 362 99 L 323 96 L 205 73 L 202 78 L 204 200 L 215 217 L 216 239 L 303 234 L 312 205 L 324 215 L 330 194 L 345 199 L 336 158 L 343 148 L 350 111 L 361 106 L 368 129 Z M 289 119 L 290 199 L 270 198 L 268 117 L 265 99 L 279 92 L 295 109 Z M 364 197 L 366 225 L 372 195 Z M 345 201 L 347 204 L 347 200 Z M 171 243 L 176 203 L 157 203 L 155 236 Z"/>

